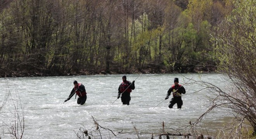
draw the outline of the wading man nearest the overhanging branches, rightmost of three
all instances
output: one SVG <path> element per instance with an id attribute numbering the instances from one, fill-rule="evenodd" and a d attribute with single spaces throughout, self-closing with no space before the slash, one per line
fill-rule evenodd
<path id="1" fill-rule="evenodd" d="M 183 105 L 183 101 L 181 99 L 182 93 L 185 94 L 186 90 L 185 88 L 179 84 L 179 79 L 178 78 L 174 78 L 174 85 L 172 85 L 168 92 L 167 95 L 165 97 L 165 99 L 168 99 L 169 96 L 171 95 L 171 92 L 173 92 L 173 98 L 171 98 L 170 104 L 169 104 L 169 108 L 173 108 L 173 105 L 175 103 L 177 103 L 177 108 L 181 108 Z"/>

